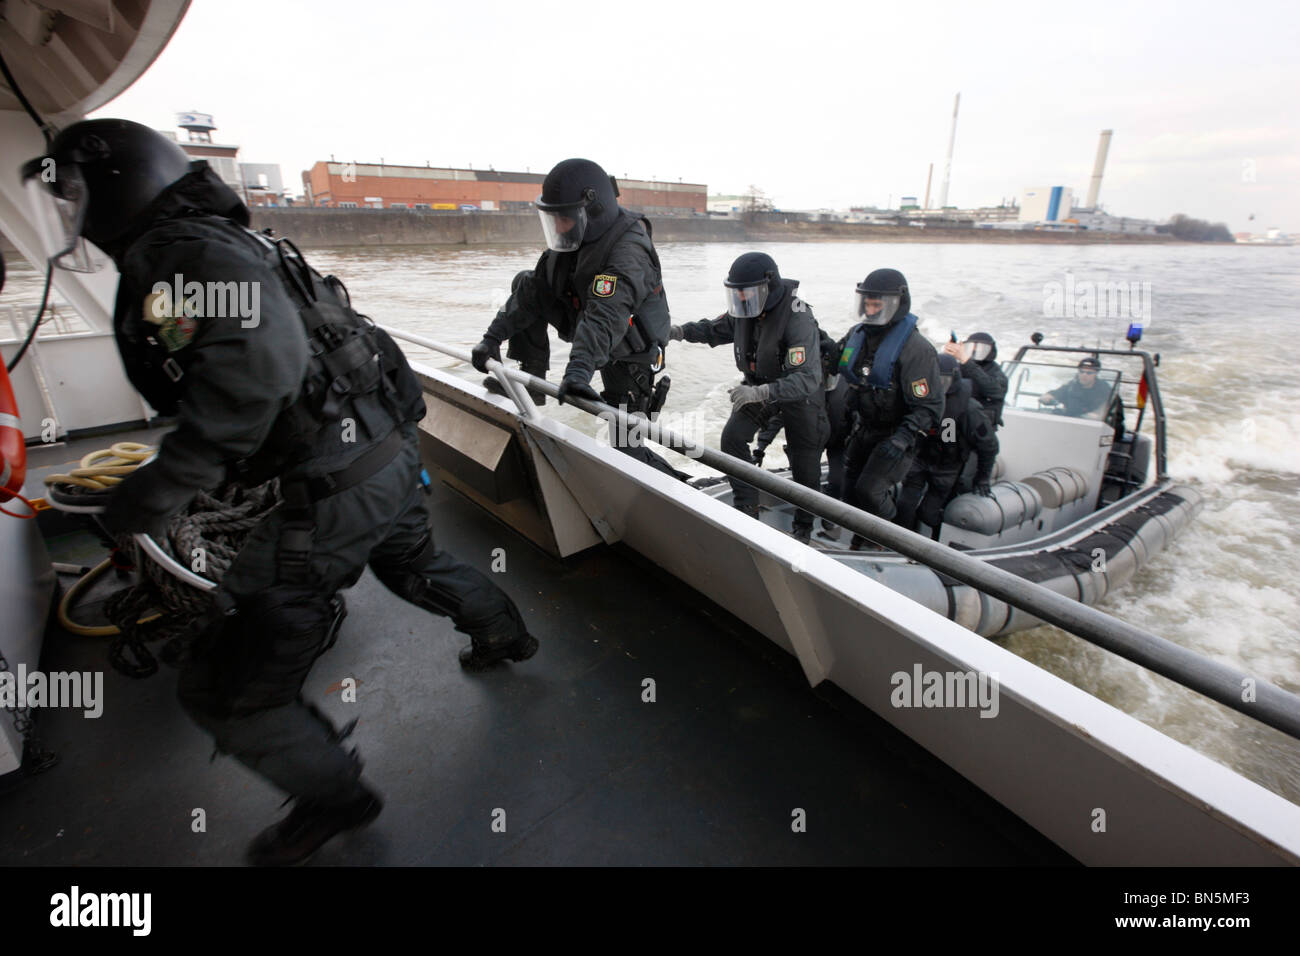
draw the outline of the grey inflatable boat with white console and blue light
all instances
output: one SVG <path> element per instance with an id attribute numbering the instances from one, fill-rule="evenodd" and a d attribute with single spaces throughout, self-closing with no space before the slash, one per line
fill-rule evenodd
<path id="1" fill-rule="evenodd" d="M 1136 349 L 1139 337 L 1119 350 L 1048 346 L 1035 334 L 1002 363 L 1009 388 L 992 497 L 957 494 L 940 528 L 918 531 L 1087 605 L 1123 587 L 1201 507 L 1195 489 L 1166 475 L 1160 355 Z M 1089 410 L 1052 405 L 1086 356 L 1102 365 Z M 697 486 L 731 499 L 725 480 Z M 760 506 L 766 524 L 790 528 L 792 505 L 762 494 Z M 893 551 L 850 550 L 837 531 L 819 524 L 812 546 L 970 631 L 993 637 L 1041 623 Z"/>

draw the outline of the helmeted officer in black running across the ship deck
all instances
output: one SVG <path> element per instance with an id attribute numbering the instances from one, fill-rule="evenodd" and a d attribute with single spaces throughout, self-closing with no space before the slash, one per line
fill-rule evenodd
<path id="1" fill-rule="evenodd" d="M 131 382 L 178 419 L 157 458 L 117 486 L 104 524 L 160 535 L 200 489 L 280 479 L 283 502 L 225 574 L 224 614 L 195 641 L 179 696 L 217 749 L 296 801 L 250 858 L 298 862 L 382 806 L 339 744 L 346 732 L 300 696 L 338 623 L 335 593 L 367 563 L 399 597 L 471 636 L 462 652 L 471 670 L 528 658 L 537 641 L 504 592 L 434 546 L 420 384 L 341 282 L 321 278 L 287 241 L 247 229 L 248 209 L 208 165 L 146 126 L 74 124 L 25 177 L 40 182 L 47 160 L 55 177 L 43 185 L 72 232 L 121 272 L 113 326 Z M 213 289 L 225 307 L 211 308 Z M 256 308 L 229 315 L 231 291 L 256 295 Z"/>

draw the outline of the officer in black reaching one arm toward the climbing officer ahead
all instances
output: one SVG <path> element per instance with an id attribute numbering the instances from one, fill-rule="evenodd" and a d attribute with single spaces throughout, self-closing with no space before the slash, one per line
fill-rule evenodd
<path id="1" fill-rule="evenodd" d="M 746 252 L 732 263 L 727 280 L 727 312 L 686 325 L 673 325 L 675 341 L 731 345 L 745 382 L 728 394 L 732 414 L 723 428 L 723 451 L 753 462 L 749 442 L 775 415 L 785 425 L 790 472 L 801 485 L 820 490 L 822 449 L 831 431 L 822 388 L 820 329 L 812 310 L 794 290 L 796 280 L 781 278 L 772 258 Z M 758 516 L 758 490 L 731 480 L 732 499 L 741 511 Z M 794 537 L 807 544 L 812 515 L 797 510 Z"/>

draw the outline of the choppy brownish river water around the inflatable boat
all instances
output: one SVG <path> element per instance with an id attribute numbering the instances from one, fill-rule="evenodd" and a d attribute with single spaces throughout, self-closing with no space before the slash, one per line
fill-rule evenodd
<path id="1" fill-rule="evenodd" d="M 1109 345 L 1128 317 L 1050 317 L 1045 289 L 1149 282 L 1144 347 L 1158 351 L 1170 472 L 1205 498 L 1200 518 L 1106 611 L 1208 657 L 1300 692 L 1300 372 L 1290 346 L 1300 298 L 1300 247 L 763 243 L 832 336 L 850 325 L 853 286 L 875 268 L 901 269 L 913 311 L 936 342 L 991 332 L 1004 356 L 1034 330 L 1049 342 Z M 659 247 L 673 320 L 723 308 L 722 278 L 748 247 Z M 469 349 L 538 250 L 517 247 L 315 251 L 377 321 Z M 16 268 L 16 297 L 39 294 Z M 555 342 L 551 378 L 567 347 Z M 450 367 L 447 359 L 413 355 Z M 468 367 L 460 373 L 480 377 Z M 675 346 L 670 410 L 694 411 L 714 446 L 738 378 L 729 349 Z M 593 432 L 572 408 L 547 410 Z M 772 453 L 779 450 L 774 445 Z M 679 467 L 685 459 L 677 459 Z M 768 464 L 775 463 L 768 458 Z M 688 463 L 696 468 L 694 463 Z M 698 470 L 698 468 L 697 468 Z M 1300 743 L 1056 628 L 1006 640 L 1015 653 L 1300 803 Z"/>

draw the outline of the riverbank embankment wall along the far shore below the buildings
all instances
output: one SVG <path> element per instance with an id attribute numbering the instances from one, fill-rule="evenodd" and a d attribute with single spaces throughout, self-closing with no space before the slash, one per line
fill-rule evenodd
<path id="1" fill-rule="evenodd" d="M 1039 245 L 1164 245 L 1166 235 L 1019 232 L 859 222 L 651 219 L 656 242 L 980 242 Z M 255 208 L 256 229 L 292 237 L 304 248 L 355 246 L 486 246 L 541 242 L 533 213 L 425 213 L 407 209 Z"/>

